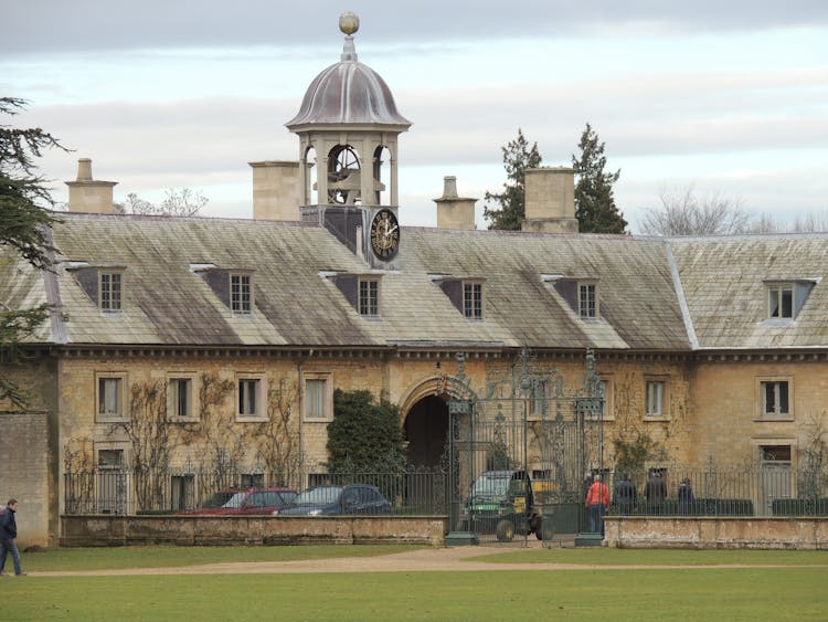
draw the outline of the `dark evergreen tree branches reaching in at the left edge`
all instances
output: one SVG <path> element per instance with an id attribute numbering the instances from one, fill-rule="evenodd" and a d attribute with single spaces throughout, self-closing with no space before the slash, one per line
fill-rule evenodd
<path id="1" fill-rule="evenodd" d="M 0 97 L 0 114 L 15 115 L 24 105 L 23 99 Z M 0 125 L 0 252 L 6 254 L 6 247 L 11 247 L 35 268 L 52 265 L 47 230 L 54 218 L 45 207 L 54 205 L 54 201 L 34 165 L 34 158 L 50 148 L 67 150 L 40 128 Z M 0 309 L 0 362 L 14 365 L 22 358 L 20 341 L 45 321 L 49 305 Z M 0 371 L 0 400 L 4 399 L 23 408 L 28 394 Z"/>

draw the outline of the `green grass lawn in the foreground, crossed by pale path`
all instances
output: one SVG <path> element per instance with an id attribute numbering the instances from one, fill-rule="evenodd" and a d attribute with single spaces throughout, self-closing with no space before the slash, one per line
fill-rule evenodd
<path id="1" fill-rule="evenodd" d="M 24 555 L 26 570 L 382 555 L 399 547 L 66 549 Z M 481 551 L 482 552 L 482 551 Z M 699 557 L 701 555 L 701 557 Z M 730 554 L 736 554 L 735 556 Z M 261 557 L 266 556 L 266 557 Z M 828 554 L 527 550 L 491 560 L 618 569 L 351 574 L 25 577 L 0 579 L 4 620 L 825 620 Z M 511 559 L 510 559 L 511 558 Z M 702 568 L 747 563 L 753 568 Z M 539 559 L 535 559 L 539 560 Z M 54 562 L 54 565 L 53 565 Z M 637 569 L 641 565 L 691 568 Z M 151 566 L 150 563 L 149 566 Z M 157 563 L 160 566 L 161 563 Z M 782 568 L 760 568 L 779 565 Z M 824 565 L 824 566 L 819 566 Z"/>

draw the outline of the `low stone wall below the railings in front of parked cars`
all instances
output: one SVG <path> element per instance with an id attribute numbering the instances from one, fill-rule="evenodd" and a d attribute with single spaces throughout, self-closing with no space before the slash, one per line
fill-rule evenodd
<path id="1" fill-rule="evenodd" d="M 61 546 L 376 545 L 442 546 L 439 516 L 63 516 Z"/>

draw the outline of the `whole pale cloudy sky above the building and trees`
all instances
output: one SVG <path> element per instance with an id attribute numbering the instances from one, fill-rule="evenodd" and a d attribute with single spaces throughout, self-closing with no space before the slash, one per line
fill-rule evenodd
<path id="1" fill-rule="evenodd" d="M 74 149 L 41 162 L 59 201 L 88 157 L 119 182 L 116 201 L 189 187 L 210 199 L 204 215 L 251 218 L 247 162 L 298 159 L 284 124 L 339 61 L 351 10 L 359 60 L 413 122 L 404 224 L 435 224 L 444 176 L 465 197 L 499 191 L 519 127 L 544 165 L 569 166 L 586 122 L 622 171 L 633 231 L 662 191 L 691 185 L 757 214 L 828 210 L 828 2 L 577 4 L 0 0 L 0 96 L 30 102 L 0 123 Z"/>

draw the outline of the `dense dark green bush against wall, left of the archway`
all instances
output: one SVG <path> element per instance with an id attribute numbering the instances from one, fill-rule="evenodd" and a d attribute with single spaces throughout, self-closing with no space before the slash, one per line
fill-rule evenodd
<path id="1" fill-rule="evenodd" d="M 370 471 L 404 456 L 400 409 L 386 400 L 375 403 L 370 391 L 333 392 L 333 421 L 328 424 L 331 473 Z"/>

